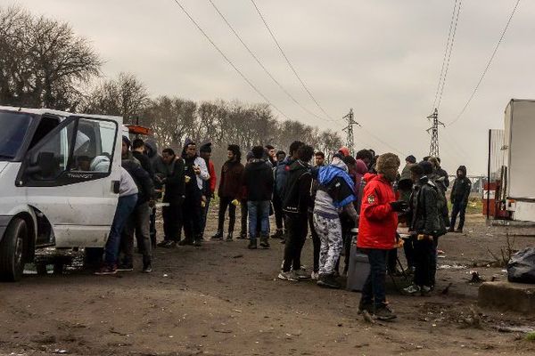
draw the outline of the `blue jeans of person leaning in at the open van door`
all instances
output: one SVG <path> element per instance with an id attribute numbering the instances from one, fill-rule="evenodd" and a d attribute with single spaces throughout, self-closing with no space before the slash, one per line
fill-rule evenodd
<path id="1" fill-rule="evenodd" d="M 117 263 L 119 256 L 120 234 L 128 221 L 128 217 L 136 208 L 137 194 L 128 195 L 126 197 L 119 197 L 117 209 L 113 216 L 113 223 L 111 223 L 110 236 L 106 241 L 106 249 L 104 251 L 104 261 L 108 265 Z"/>

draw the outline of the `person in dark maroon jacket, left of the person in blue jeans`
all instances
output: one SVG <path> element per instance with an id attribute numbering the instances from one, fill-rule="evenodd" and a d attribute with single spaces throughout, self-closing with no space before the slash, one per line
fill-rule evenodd
<path id="1" fill-rule="evenodd" d="M 226 240 L 232 241 L 236 222 L 236 202 L 240 201 L 243 195 L 242 175 L 244 167 L 240 162 L 242 159 L 240 147 L 234 144 L 228 145 L 227 158 L 228 160 L 221 167 L 221 179 L 218 189 L 218 232 L 211 239 L 223 239 L 225 214 L 226 208 L 228 208 L 228 235 L 226 235 Z"/>

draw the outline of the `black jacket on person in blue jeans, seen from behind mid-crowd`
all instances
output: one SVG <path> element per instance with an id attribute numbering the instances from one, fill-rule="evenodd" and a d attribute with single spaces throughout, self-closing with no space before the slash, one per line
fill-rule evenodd
<path id="1" fill-rule="evenodd" d="M 248 201 L 271 200 L 273 196 L 273 172 L 264 160 L 254 159 L 243 170 L 243 185 Z"/>

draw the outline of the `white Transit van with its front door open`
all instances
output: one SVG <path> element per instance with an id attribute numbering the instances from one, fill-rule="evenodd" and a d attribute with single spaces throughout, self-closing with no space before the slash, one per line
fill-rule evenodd
<path id="1" fill-rule="evenodd" d="M 118 201 L 122 117 L 0 106 L 0 279 L 40 247 L 103 247 Z"/>

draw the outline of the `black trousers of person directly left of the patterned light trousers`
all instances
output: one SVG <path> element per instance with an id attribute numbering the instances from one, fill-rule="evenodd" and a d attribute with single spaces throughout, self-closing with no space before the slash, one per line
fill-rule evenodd
<path id="1" fill-rule="evenodd" d="M 300 254 L 307 239 L 309 218 L 307 214 L 286 214 L 288 231 L 284 245 L 283 271 L 300 270 Z"/>

